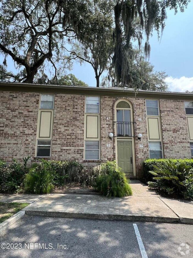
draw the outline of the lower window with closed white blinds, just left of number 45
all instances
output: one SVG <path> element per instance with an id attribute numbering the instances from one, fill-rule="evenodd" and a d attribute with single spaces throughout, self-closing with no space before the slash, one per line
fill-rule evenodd
<path id="1" fill-rule="evenodd" d="M 99 159 L 99 141 L 85 141 L 85 159 Z"/>

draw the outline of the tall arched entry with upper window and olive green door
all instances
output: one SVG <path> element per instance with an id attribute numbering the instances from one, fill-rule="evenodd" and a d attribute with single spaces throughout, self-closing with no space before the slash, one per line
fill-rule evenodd
<path id="1" fill-rule="evenodd" d="M 116 161 L 128 176 L 135 175 L 134 122 L 132 104 L 126 100 L 115 103 Z"/>

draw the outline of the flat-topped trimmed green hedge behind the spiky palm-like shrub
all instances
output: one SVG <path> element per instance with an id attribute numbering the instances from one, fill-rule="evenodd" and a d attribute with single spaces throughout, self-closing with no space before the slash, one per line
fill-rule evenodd
<path id="1" fill-rule="evenodd" d="M 156 158 L 148 158 L 146 160 L 143 161 L 143 181 L 145 183 L 147 183 L 148 181 L 155 181 L 153 179 L 153 175 L 151 173 L 149 173 L 149 171 L 154 170 L 154 166 L 156 167 L 162 167 L 163 165 L 167 165 L 167 162 L 171 161 L 174 163 L 178 163 L 178 164 L 185 164 L 187 166 L 191 166 L 193 167 L 193 159 L 174 159 L 174 158 L 161 158 L 161 159 L 156 159 Z"/>

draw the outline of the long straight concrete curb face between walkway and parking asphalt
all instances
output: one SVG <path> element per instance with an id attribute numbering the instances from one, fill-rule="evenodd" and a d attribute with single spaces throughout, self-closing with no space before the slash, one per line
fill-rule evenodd
<path id="1" fill-rule="evenodd" d="M 92 219 L 92 220 L 119 220 L 119 221 L 135 221 L 135 222 L 180 223 L 179 218 L 116 215 L 116 214 L 93 214 L 93 213 L 91 214 L 91 213 L 26 210 L 26 215 L 43 216 L 43 217 L 73 218 L 73 219 Z"/>

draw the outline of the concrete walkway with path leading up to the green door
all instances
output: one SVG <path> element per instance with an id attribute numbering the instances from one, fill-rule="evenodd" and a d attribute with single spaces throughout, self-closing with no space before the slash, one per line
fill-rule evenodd
<path id="1" fill-rule="evenodd" d="M 20 199 L 24 201 L 26 197 L 24 202 L 31 201 L 24 209 L 26 215 L 193 224 L 193 202 L 161 198 L 137 180 L 131 186 L 133 195 L 124 198 L 47 194 L 21 195 Z M 6 196 L 0 195 L 0 201 L 13 201 L 14 196 L 18 201 L 20 195 Z M 35 196 L 37 200 L 32 202 Z"/>

